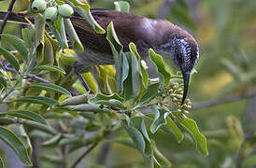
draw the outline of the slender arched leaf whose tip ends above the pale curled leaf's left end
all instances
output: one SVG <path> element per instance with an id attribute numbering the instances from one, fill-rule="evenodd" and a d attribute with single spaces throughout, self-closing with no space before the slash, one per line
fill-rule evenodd
<path id="1" fill-rule="evenodd" d="M 61 93 L 64 93 L 66 95 L 71 96 L 71 93 L 69 91 L 67 91 L 66 89 L 64 89 L 63 87 L 58 86 L 58 85 L 54 85 L 54 84 L 51 84 L 51 83 L 35 83 L 35 84 L 32 84 L 32 85 L 28 85 L 27 87 L 28 88 L 36 88 L 36 89 L 39 89 L 39 90 L 61 92 Z"/>

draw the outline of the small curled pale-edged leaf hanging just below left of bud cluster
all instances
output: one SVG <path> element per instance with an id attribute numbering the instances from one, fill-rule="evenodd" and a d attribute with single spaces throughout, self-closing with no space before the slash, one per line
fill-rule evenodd
<path id="1" fill-rule="evenodd" d="M 158 109 L 157 105 L 153 105 L 152 110 L 155 113 L 155 117 L 150 126 L 150 132 L 156 133 L 160 127 L 166 125 L 165 119 L 168 117 L 169 112 L 164 109 Z"/>

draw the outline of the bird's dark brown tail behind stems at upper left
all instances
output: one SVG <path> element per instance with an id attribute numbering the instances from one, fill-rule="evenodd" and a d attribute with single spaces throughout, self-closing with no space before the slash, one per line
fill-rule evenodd
<path id="1" fill-rule="evenodd" d="M 6 11 L 0 11 L 0 22 L 5 19 L 6 15 Z M 7 22 L 14 22 L 19 24 L 29 24 L 28 21 L 33 21 L 32 17 L 29 17 L 23 13 L 10 12 L 7 18 Z"/>

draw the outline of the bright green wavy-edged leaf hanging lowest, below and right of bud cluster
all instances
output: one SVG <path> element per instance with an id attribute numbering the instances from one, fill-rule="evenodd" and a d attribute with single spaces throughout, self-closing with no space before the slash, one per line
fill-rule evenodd
<path id="1" fill-rule="evenodd" d="M 176 119 L 178 120 L 178 123 L 192 135 L 196 148 L 200 150 L 204 155 L 208 155 L 206 136 L 199 132 L 196 122 L 189 118 L 183 119 L 179 115 L 176 115 Z"/>

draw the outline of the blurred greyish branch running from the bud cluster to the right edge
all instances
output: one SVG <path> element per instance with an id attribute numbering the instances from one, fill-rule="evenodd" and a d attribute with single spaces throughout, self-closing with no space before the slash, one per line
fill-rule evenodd
<path id="1" fill-rule="evenodd" d="M 228 97 L 217 99 L 217 100 L 209 100 L 206 102 L 197 103 L 197 104 L 192 105 L 192 109 L 209 107 L 209 106 L 214 106 L 214 105 L 228 104 L 228 103 L 232 103 L 235 101 L 239 101 L 241 99 L 248 99 L 248 98 L 255 97 L 255 96 L 256 96 L 256 89 L 254 91 L 243 93 L 243 94 L 232 95 L 232 96 L 228 96 Z"/>

